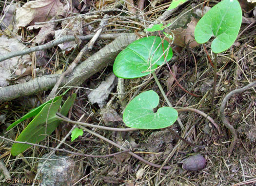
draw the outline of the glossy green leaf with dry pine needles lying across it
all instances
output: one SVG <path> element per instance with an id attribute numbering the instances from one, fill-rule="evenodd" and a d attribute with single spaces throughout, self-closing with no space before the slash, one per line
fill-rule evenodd
<path id="1" fill-rule="evenodd" d="M 114 74 L 125 79 L 143 77 L 150 74 L 150 71 L 164 63 L 163 50 L 167 61 L 173 56 L 171 47 L 167 55 L 166 49 L 169 43 L 164 40 L 162 47 L 161 42 L 160 37 L 151 36 L 138 39 L 129 44 L 116 57 L 113 66 Z"/>

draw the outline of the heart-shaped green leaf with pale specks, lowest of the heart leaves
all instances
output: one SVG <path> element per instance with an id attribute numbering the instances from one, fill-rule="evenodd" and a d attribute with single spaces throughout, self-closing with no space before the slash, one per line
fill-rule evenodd
<path id="1" fill-rule="evenodd" d="M 146 91 L 136 96 L 125 108 L 123 121 L 126 126 L 136 129 L 160 129 L 172 125 L 178 112 L 171 107 L 161 107 L 156 113 L 159 96 L 154 91 Z"/>

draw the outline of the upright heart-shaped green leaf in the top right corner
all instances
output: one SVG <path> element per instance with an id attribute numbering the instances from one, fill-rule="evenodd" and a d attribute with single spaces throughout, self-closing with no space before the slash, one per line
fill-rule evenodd
<path id="1" fill-rule="evenodd" d="M 222 0 L 197 23 L 195 39 L 207 42 L 212 36 L 212 51 L 221 53 L 235 42 L 242 23 L 242 10 L 237 0 Z"/>

